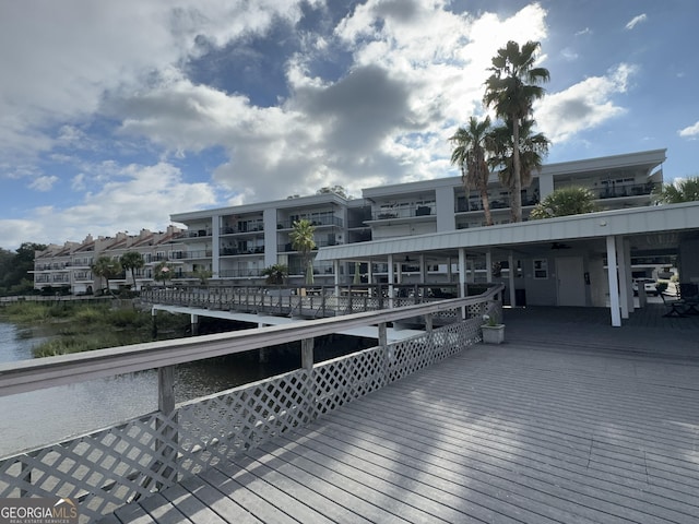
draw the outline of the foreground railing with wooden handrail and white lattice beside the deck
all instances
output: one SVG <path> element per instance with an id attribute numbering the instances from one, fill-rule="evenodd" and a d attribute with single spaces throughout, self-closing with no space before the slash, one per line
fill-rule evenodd
<path id="1" fill-rule="evenodd" d="M 478 298 L 358 313 L 301 325 L 273 326 L 186 341 L 0 366 L 0 394 L 70 383 L 123 370 L 159 369 L 159 410 L 0 461 L 0 498 L 63 497 L 80 503 L 81 522 L 171 486 L 304 426 L 319 415 L 447 358 L 481 340 L 482 314 L 501 313 L 501 288 Z M 469 318 L 460 319 L 466 308 Z M 454 323 L 431 329 L 430 315 L 454 311 Z M 426 314 L 424 334 L 387 344 L 386 322 Z M 379 325 L 379 345 L 312 364 L 312 338 L 347 324 Z M 178 406 L 168 370 L 197 358 L 301 340 L 301 368 Z M 310 343 L 308 341 L 311 341 Z M 155 364 L 155 365 L 154 365 Z"/>

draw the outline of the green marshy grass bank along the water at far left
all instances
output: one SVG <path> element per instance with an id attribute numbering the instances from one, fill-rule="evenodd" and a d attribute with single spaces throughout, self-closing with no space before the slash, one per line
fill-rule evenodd
<path id="1" fill-rule="evenodd" d="M 49 337 L 34 347 L 35 357 L 153 341 L 151 313 L 130 303 L 117 308 L 104 302 L 14 302 L 0 310 L 0 318 Z M 180 337 L 189 327 L 189 317 L 159 312 L 157 326 L 158 340 Z"/>

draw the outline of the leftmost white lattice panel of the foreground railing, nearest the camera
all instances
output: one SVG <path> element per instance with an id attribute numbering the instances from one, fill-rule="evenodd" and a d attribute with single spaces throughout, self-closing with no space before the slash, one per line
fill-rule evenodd
<path id="1" fill-rule="evenodd" d="M 177 480 L 176 425 L 154 413 L 0 463 L 0 498 L 64 497 L 81 522 Z"/>

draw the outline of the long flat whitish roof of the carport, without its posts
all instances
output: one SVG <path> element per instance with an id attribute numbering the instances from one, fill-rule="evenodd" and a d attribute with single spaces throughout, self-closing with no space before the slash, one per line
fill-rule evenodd
<path id="1" fill-rule="evenodd" d="M 370 242 L 321 248 L 316 260 L 369 260 L 389 254 L 454 252 L 460 248 L 486 250 L 543 242 L 625 236 L 639 247 L 676 247 L 677 233 L 699 230 L 699 202 L 613 210 L 518 224 L 458 229 Z M 673 241 L 674 239 L 675 241 Z M 671 247 L 671 246 L 667 246 Z"/>

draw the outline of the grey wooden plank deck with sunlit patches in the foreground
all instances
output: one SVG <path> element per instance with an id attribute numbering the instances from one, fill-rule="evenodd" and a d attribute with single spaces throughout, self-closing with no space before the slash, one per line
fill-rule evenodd
<path id="1" fill-rule="evenodd" d="M 506 321 L 105 522 L 699 522 L 699 331 Z"/>

